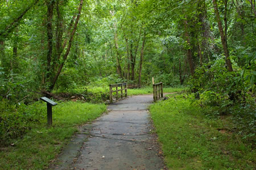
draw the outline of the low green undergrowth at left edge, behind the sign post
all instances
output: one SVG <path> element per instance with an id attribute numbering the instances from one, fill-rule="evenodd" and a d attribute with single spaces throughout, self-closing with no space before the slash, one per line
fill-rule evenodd
<path id="1" fill-rule="evenodd" d="M 8 101 L 1 101 L 0 105 L 0 145 L 10 144 L 15 138 L 22 138 L 24 134 L 43 118 L 42 104 L 34 103 L 34 105 L 26 106 L 20 104 L 18 106 L 11 105 Z"/>

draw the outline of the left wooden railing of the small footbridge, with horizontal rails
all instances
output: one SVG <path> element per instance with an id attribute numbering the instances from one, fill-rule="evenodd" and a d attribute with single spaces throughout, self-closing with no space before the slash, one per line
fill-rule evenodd
<path id="1" fill-rule="evenodd" d="M 115 88 L 115 89 L 113 90 L 113 88 Z M 124 91 L 124 93 L 123 93 L 123 91 Z M 121 92 L 121 93 L 118 93 L 118 92 Z M 113 103 L 114 99 L 115 99 L 115 101 L 118 101 L 118 99 L 123 99 L 125 97 L 127 97 L 127 82 L 121 82 L 118 84 L 110 84 L 109 85 L 109 101 L 110 101 L 110 103 Z"/>

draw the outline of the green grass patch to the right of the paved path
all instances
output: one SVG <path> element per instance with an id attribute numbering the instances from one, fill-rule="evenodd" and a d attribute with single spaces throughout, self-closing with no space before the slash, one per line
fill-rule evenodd
<path id="1" fill-rule="evenodd" d="M 254 147 L 230 131 L 230 117 L 207 118 L 182 95 L 151 105 L 150 113 L 168 168 L 255 168 Z"/>

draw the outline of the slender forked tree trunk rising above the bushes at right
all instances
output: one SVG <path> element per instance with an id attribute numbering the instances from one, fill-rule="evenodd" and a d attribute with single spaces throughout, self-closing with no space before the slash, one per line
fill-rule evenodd
<path id="1" fill-rule="evenodd" d="M 226 14 L 226 10 L 227 10 L 227 7 L 226 7 L 226 3 L 228 0 L 225 0 L 225 14 Z M 233 68 L 232 68 L 232 63 L 229 59 L 229 50 L 228 50 L 228 41 L 227 41 L 227 35 L 225 34 L 224 35 L 224 30 L 223 30 L 223 27 L 222 27 L 222 24 L 221 24 L 221 19 L 220 19 L 220 14 L 218 13 L 218 6 L 217 6 L 217 0 L 212 0 L 213 2 L 213 6 L 214 6 L 214 12 L 215 12 L 215 15 L 216 15 L 216 19 L 217 19 L 217 22 L 218 22 L 218 30 L 220 31 L 220 36 L 221 36 L 221 43 L 222 43 L 222 47 L 224 49 L 224 53 L 225 53 L 225 57 L 226 57 L 226 65 L 228 67 L 228 71 L 229 72 L 233 72 Z M 227 28 L 227 18 L 226 18 L 226 15 L 224 16 L 224 22 L 225 22 L 225 28 Z M 227 30 L 225 29 L 225 32 Z"/>

